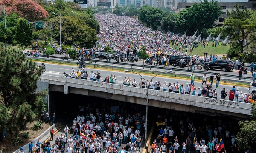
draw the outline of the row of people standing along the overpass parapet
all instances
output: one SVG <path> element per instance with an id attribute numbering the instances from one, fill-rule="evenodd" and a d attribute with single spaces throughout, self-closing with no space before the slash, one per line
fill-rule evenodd
<path id="1" fill-rule="evenodd" d="M 76 72 L 72 68 L 71 77 L 77 78 L 77 79 L 86 79 L 91 81 L 101 81 L 102 76 L 100 75 L 99 71 L 90 73 L 87 73 L 85 69 L 78 69 Z M 224 100 L 231 100 L 236 102 L 246 102 L 246 103 L 252 103 L 254 102 L 254 99 L 252 95 L 248 93 L 244 93 L 242 91 L 239 91 L 238 88 L 233 86 L 233 88 L 230 88 L 229 90 L 226 90 L 224 87 L 222 90 L 218 91 L 218 85 L 221 81 L 221 74 L 218 73 L 216 76 L 211 74 L 210 76 L 207 76 L 204 74 L 202 76 L 202 82 L 201 87 L 195 86 L 195 75 L 192 73 L 190 75 L 190 83 L 184 83 L 183 82 L 160 82 L 160 81 L 154 81 L 154 80 L 143 80 L 143 78 L 140 78 L 139 81 L 136 81 L 136 79 L 132 79 L 130 77 L 124 77 L 123 79 L 117 79 L 116 75 L 111 74 L 110 76 L 106 76 L 105 79 L 102 80 L 102 82 L 106 83 L 113 83 L 116 84 L 116 80 L 122 81 L 123 85 L 127 86 L 133 86 L 133 87 L 140 87 L 140 88 L 149 88 L 154 90 L 163 90 L 168 92 L 174 92 L 179 94 L 189 94 L 194 96 L 204 96 L 209 98 L 218 98 L 218 94 L 220 99 Z M 213 83 L 216 81 L 215 88 L 213 87 Z"/>

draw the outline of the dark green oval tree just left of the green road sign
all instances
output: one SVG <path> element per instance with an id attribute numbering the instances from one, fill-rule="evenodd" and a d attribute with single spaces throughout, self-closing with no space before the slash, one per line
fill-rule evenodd
<path id="1" fill-rule="evenodd" d="M 16 26 L 15 40 L 22 46 L 29 46 L 33 40 L 33 29 L 26 19 L 19 19 Z"/>

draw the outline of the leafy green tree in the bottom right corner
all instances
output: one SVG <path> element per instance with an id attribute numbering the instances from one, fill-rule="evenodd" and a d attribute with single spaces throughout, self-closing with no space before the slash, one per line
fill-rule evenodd
<path id="1" fill-rule="evenodd" d="M 243 150 L 251 149 L 251 153 L 256 151 L 256 104 L 252 104 L 252 120 L 240 121 L 240 131 L 236 135 L 236 142 Z"/>

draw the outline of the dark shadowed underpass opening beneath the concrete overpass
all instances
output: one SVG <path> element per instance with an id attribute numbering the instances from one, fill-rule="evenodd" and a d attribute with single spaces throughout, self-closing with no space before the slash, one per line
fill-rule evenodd
<path id="1" fill-rule="evenodd" d="M 128 129 L 129 126 L 132 127 L 131 130 L 128 129 L 128 135 L 132 134 L 130 133 L 132 131 L 134 134 L 138 133 L 137 131 L 140 131 L 138 134 L 140 136 L 143 136 L 144 134 L 143 123 L 145 123 L 145 105 L 84 96 L 80 94 L 63 94 L 55 91 L 49 92 L 49 105 L 50 113 L 56 111 L 56 120 L 63 116 L 69 116 L 71 119 L 70 124 L 72 124 L 74 118 L 79 118 L 78 114 L 80 117 L 81 115 L 84 115 L 85 122 L 90 120 L 99 124 L 100 120 L 102 120 L 105 125 L 105 129 L 97 133 L 97 135 L 100 136 L 102 136 L 104 130 L 109 130 L 111 131 L 111 138 L 114 139 L 113 133 L 115 131 L 115 122 L 118 123 L 119 127 L 118 130 L 116 129 L 117 134 L 119 131 L 123 133 L 125 126 L 127 126 L 126 129 Z M 198 110 L 200 109 L 202 108 L 198 108 Z M 237 124 L 239 119 L 233 119 L 229 116 L 189 113 L 151 106 L 149 106 L 148 109 L 148 119 L 148 136 L 153 124 L 155 127 L 152 133 L 153 139 L 151 139 L 150 145 L 153 143 L 154 139 L 156 139 L 157 135 L 163 133 L 163 135 L 161 134 L 161 137 L 163 137 L 167 133 L 166 135 L 169 143 L 166 146 L 168 150 L 171 144 L 174 143 L 174 139 L 177 136 L 178 143 L 180 144 L 180 153 L 182 152 L 182 142 L 186 142 L 189 135 L 192 138 L 191 145 L 190 148 L 188 148 L 189 145 L 187 145 L 186 150 L 188 151 L 190 149 L 191 153 L 195 150 L 192 148 L 194 137 L 195 139 L 197 138 L 198 142 L 200 142 L 201 138 L 204 138 L 204 141 L 207 144 L 210 139 L 212 139 L 212 142 L 219 142 L 220 136 L 224 140 L 224 146 L 227 153 L 229 153 L 232 149 L 231 146 L 233 146 L 231 140 L 239 130 L 239 126 Z M 156 122 L 160 121 L 164 122 L 165 125 L 157 126 Z M 90 122 L 88 123 L 90 126 Z M 112 128 L 108 127 L 108 123 L 111 123 Z M 137 128 L 139 129 L 137 130 Z M 170 132 L 171 128 L 174 134 L 169 136 L 169 133 L 172 133 Z M 125 142 L 131 142 L 129 136 Z M 144 145 L 143 142 L 144 140 L 141 141 L 142 147 Z M 122 145 L 124 145 L 124 140 L 122 140 Z M 159 145 L 162 145 L 162 143 Z"/>

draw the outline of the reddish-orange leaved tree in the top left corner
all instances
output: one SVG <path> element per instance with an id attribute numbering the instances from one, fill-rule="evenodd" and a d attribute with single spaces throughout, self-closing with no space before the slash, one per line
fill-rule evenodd
<path id="1" fill-rule="evenodd" d="M 3 1 L 0 3 L 3 5 Z M 33 0 L 5 0 L 5 4 L 7 14 L 15 12 L 21 17 L 26 16 L 27 20 L 31 22 L 44 20 L 49 15 L 42 6 Z"/>

